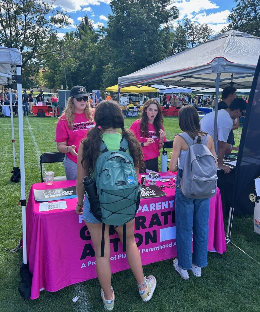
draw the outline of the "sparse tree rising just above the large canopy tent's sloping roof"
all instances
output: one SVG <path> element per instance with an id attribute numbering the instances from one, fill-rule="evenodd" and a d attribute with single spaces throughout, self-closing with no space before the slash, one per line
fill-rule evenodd
<path id="1" fill-rule="evenodd" d="M 213 30 L 207 24 L 199 25 L 185 18 L 184 24 L 177 23 L 177 26 L 170 33 L 169 54 L 173 55 L 197 46 L 209 40 L 212 35 Z"/>

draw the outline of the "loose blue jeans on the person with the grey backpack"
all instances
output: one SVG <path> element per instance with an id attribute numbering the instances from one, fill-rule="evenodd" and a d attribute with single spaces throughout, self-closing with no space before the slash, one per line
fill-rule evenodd
<path id="1" fill-rule="evenodd" d="M 208 265 L 208 217 L 210 198 L 192 199 L 179 188 L 179 170 L 175 188 L 175 225 L 178 265 L 190 270 L 191 264 L 201 268 Z M 193 232 L 193 254 L 191 254 Z"/>

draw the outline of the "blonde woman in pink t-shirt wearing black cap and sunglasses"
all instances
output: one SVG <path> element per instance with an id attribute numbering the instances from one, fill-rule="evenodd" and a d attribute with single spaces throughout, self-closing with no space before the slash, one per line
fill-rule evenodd
<path id="1" fill-rule="evenodd" d="M 89 129 L 95 127 L 93 111 L 86 89 L 81 85 L 72 87 L 66 107 L 56 127 L 57 149 L 65 153 L 64 168 L 67 180 L 77 178 L 77 153 Z"/>

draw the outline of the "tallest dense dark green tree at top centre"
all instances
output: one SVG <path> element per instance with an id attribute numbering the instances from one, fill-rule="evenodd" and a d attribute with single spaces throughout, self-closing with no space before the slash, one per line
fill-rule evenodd
<path id="1" fill-rule="evenodd" d="M 169 51 L 169 22 L 179 11 L 170 0 L 112 0 L 113 15 L 101 29 L 100 51 L 106 64 L 103 85 L 162 60 Z M 170 8 L 169 8 L 170 7 Z"/>

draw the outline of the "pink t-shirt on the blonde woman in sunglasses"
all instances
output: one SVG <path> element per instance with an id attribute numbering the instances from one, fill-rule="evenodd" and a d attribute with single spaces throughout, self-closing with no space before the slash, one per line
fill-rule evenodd
<path id="1" fill-rule="evenodd" d="M 83 139 L 86 138 L 87 132 L 89 129 L 95 127 L 95 121 L 90 121 L 85 117 L 85 114 L 76 114 L 76 118 L 72 123 L 72 129 L 69 128 L 68 122 L 65 119 L 65 116 L 59 118 L 59 121 L 56 126 L 56 138 L 55 142 L 65 142 L 67 141 L 68 145 L 76 145 L 75 151 L 78 153 L 79 145 Z M 66 153 L 67 157 L 70 158 L 74 163 L 77 163 L 77 156 L 72 155 L 71 153 Z"/>

